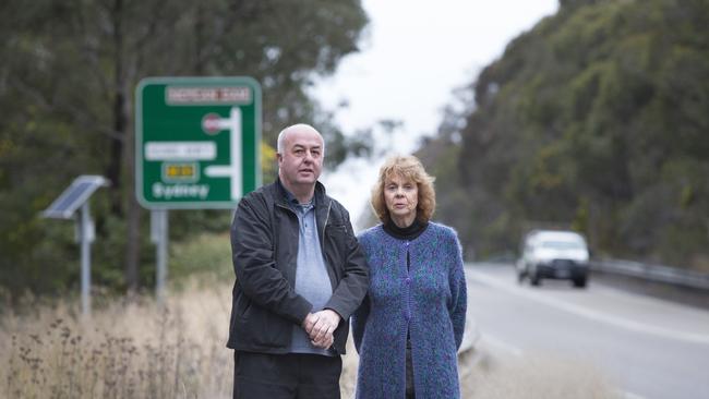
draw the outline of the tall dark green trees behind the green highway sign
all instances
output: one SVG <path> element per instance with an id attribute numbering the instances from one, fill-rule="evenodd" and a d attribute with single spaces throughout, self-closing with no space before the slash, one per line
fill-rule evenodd
<path id="1" fill-rule="evenodd" d="M 77 283 L 73 223 L 38 213 L 79 174 L 111 181 L 92 200 L 94 282 L 152 286 L 147 213 L 133 193 L 133 93 L 142 77 L 255 77 L 263 159 L 273 162 L 275 136 L 288 123 L 313 123 L 326 141 L 343 142 L 308 88 L 358 51 L 366 22 L 359 0 L 2 1 L 0 291 Z M 264 181 L 273 179 L 273 165 L 264 169 Z M 228 223 L 228 211 L 170 217 L 172 239 Z"/>

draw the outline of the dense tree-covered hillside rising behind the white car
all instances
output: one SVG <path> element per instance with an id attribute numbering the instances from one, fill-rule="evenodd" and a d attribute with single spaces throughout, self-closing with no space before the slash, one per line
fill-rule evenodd
<path id="1" fill-rule="evenodd" d="M 558 227 L 709 270 L 707 26 L 706 0 L 569 0 L 513 40 L 420 152 L 468 253 Z"/>

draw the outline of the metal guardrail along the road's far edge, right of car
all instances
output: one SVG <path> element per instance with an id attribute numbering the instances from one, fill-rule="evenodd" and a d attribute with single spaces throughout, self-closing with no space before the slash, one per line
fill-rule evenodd
<path id="1" fill-rule="evenodd" d="M 633 261 L 599 259 L 591 261 L 589 264 L 591 270 L 709 291 L 709 273 L 685 270 L 662 265 L 647 265 Z"/>

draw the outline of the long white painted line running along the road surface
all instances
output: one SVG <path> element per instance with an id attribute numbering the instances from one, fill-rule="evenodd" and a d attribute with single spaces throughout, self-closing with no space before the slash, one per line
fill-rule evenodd
<path id="1" fill-rule="evenodd" d="M 633 322 L 617 316 L 612 316 L 601 312 L 592 311 L 590 309 L 573 305 L 570 303 L 558 302 L 557 300 L 544 297 L 537 292 L 530 292 L 519 289 L 518 287 L 512 287 L 505 282 L 500 281 L 494 277 L 486 276 L 482 273 L 473 270 L 471 268 L 466 269 L 466 275 L 471 277 L 474 280 L 483 282 L 488 286 L 495 287 L 503 291 L 509 292 L 518 297 L 525 297 L 527 299 L 544 303 L 549 306 L 561 309 L 563 311 L 582 316 L 592 321 L 608 323 L 617 327 L 622 327 L 632 331 L 644 332 L 648 335 L 653 335 L 662 338 L 677 339 L 687 342 L 709 344 L 709 335 L 705 334 L 694 334 L 694 332 L 684 332 L 676 331 L 668 328 L 650 326 L 647 324 Z"/>

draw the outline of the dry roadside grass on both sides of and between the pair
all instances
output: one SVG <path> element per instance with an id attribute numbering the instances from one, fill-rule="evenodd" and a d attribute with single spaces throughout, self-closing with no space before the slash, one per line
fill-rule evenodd
<path id="1" fill-rule="evenodd" d="M 212 288 L 209 288 L 212 287 Z M 224 347 L 229 287 L 193 283 L 169 297 L 112 304 L 89 321 L 67 304 L 0 319 L 0 398 L 230 398 L 233 361 Z M 358 356 L 349 342 L 340 378 L 353 397 Z M 618 398 L 603 374 L 549 354 L 460 358 L 464 398 Z"/>

